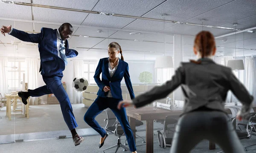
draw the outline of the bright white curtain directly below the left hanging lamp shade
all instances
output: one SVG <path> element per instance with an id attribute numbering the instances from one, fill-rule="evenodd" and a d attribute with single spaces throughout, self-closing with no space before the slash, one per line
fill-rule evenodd
<path id="1" fill-rule="evenodd" d="M 157 84 L 163 84 L 166 81 L 172 79 L 173 68 L 156 68 L 155 69 L 155 78 Z"/>

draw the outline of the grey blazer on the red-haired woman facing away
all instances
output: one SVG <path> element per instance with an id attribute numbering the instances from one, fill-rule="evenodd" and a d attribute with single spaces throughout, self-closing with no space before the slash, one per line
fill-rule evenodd
<path id="1" fill-rule="evenodd" d="M 218 65 L 212 59 L 204 58 L 201 64 L 182 62 L 171 80 L 156 86 L 133 99 L 139 108 L 156 99 L 165 98 L 181 85 L 185 96 L 183 113 L 205 106 L 213 110 L 224 111 L 227 92 L 231 90 L 244 107 L 253 102 L 247 89 L 233 74 L 231 68 Z"/>

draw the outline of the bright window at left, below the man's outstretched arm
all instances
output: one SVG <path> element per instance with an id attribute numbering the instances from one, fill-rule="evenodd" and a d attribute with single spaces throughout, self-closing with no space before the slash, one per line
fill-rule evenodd
<path id="1" fill-rule="evenodd" d="M 8 60 L 7 66 L 7 84 L 9 90 L 21 90 L 20 82 L 23 80 L 23 73 L 25 73 L 25 61 Z"/>

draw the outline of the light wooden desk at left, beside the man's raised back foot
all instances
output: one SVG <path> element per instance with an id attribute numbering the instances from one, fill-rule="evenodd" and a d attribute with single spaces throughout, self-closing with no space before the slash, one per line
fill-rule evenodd
<path id="1" fill-rule="evenodd" d="M 21 98 L 17 94 L 15 94 L 15 95 L 13 95 L 13 94 L 4 94 L 4 95 L 6 97 L 6 116 L 8 116 L 9 120 L 12 120 L 12 117 L 11 117 L 12 116 L 12 110 L 11 110 L 12 103 L 11 103 L 11 100 L 12 99 L 14 100 L 13 101 L 13 111 L 16 111 L 15 108 L 16 108 L 17 99 L 20 99 L 20 101 L 22 101 L 22 100 L 21 100 Z M 27 99 L 28 104 L 25 105 L 25 109 L 26 109 L 25 117 L 27 117 L 27 118 L 29 118 L 29 98 Z M 22 103 L 22 105 L 23 105 L 23 103 Z"/>

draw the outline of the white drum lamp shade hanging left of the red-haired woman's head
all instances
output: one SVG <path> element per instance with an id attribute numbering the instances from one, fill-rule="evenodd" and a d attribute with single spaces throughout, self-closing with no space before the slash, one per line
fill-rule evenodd
<path id="1" fill-rule="evenodd" d="M 156 58 L 155 68 L 173 68 L 171 56 L 160 56 Z"/>

